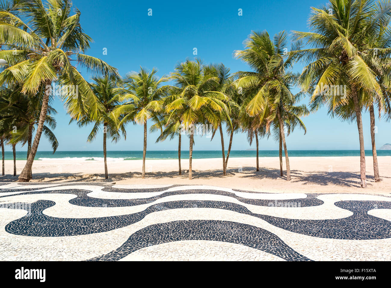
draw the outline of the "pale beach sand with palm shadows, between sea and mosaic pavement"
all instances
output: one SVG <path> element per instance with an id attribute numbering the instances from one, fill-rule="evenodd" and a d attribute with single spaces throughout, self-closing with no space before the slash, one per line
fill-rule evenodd
<path id="1" fill-rule="evenodd" d="M 193 179 L 188 179 L 188 159 L 182 159 L 182 176 L 178 176 L 178 159 L 146 160 L 146 177 L 141 178 L 142 160 L 108 161 L 109 179 L 104 179 L 103 161 L 48 161 L 33 164 L 34 182 L 108 181 L 117 184 L 213 185 L 241 190 L 279 193 L 370 193 L 391 196 L 391 156 L 378 157 L 382 181 L 373 179 L 373 160 L 366 157 L 368 188 L 359 185 L 359 157 L 290 157 L 291 181 L 280 177 L 278 157 L 230 158 L 227 176 L 222 176 L 222 159 L 193 159 Z M 25 161 L 16 161 L 17 173 Z M 13 161 L 5 161 L 5 176 L 0 181 L 16 181 Z"/>

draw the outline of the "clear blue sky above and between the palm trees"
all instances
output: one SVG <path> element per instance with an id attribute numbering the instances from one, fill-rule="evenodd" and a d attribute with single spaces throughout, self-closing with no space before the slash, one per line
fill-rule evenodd
<path id="1" fill-rule="evenodd" d="M 242 49 L 242 42 L 251 31 L 266 30 L 271 36 L 281 30 L 308 31 L 307 20 L 311 6 L 325 4 L 326 1 L 128 1 L 128 0 L 74 0 L 74 7 L 81 11 L 81 24 L 84 31 L 93 38 L 94 43 L 86 54 L 99 57 L 117 67 L 124 76 L 129 71 L 142 67 L 159 69 L 163 76 L 173 71 L 174 66 L 193 58 L 193 48 L 197 48 L 197 57 L 206 63 L 222 62 L 231 68 L 231 72 L 246 71 L 248 67 L 233 59 L 233 51 Z M 148 16 L 152 9 L 152 16 Z M 242 16 L 238 15 L 242 9 Z M 103 49 L 107 48 L 107 55 Z M 294 70 L 301 71 L 301 64 Z M 84 77 L 90 78 L 86 71 Z M 305 100 L 308 103 L 308 97 Z M 70 117 L 63 103 L 56 100 L 54 107 L 58 114 L 55 134 L 59 140 L 58 150 L 102 150 L 102 132 L 93 143 L 86 139 L 92 127 L 78 128 L 68 125 Z M 359 149 L 357 125 L 331 119 L 325 109 L 303 119 L 307 134 L 295 130 L 287 137 L 290 150 L 334 150 Z M 365 148 L 371 149 L 369 134 L 369 114 L 363 115 Z M 377 119 L 377 147 L 391 143 L 390 123 Z M 155 143 L 158 134 L 148 134 L 148 150 L 175 150 L 178 141 Z M 228 137 L 225 138 L 228 143 Z M 195 150 L 221 149 L 220 137 L 210 141 L 205 137 L 195 137 Z M 228 144 L 227 144 L 228 145 Z M 127 140 L 116 144 L 108 143 L 108 150 L 142 150 L 143 127 L 129 125 Z M 188 150 L 187 138 L 182 139 L 182 149 Z M 253 143 L 252 148 L 255 147 Z M 235 134 L 233 150 L 250 148 L 244 134 Z M 261 139 L 260 150 L 278 149 L 278 143 L 272 139 Z M 7 150 L 11 150 L 7 147 Z M 17 147 L 17 150 L 27 150 Z M 44 137 L 38 150 L 50 150 Z"/>

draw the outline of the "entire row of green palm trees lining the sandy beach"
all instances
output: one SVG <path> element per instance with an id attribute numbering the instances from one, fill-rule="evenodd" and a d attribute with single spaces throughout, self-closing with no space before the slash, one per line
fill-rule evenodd
<path id="1" fill-rule="evenodd" d="M 61 13 L 54 13 L 60 11 Z M 283 175 L 282 149 L 285 153 L 286 178 L 291 180 L 285 136 L 295 128 L 306 132 L 301 118 L 326 106 L 330 116 L 356 121 L 359 131 L 361 187 L 366 187 L 362 111 L 369 110 L 375 181 L 380 181 L 375 147 L 375 107 L 378 115 L 391 118 L 390 43 L 391 5 L 388 0 L 331 0 L 312 8 L 309 32 L 293 32 L 290 51 L 287 34 L 280 32 L 271 40 L 267 32 L 252 32 L 244 49 L 234 57 L 248 64 L 250 71 L 230 74 L 222 63 L 204 64 L 201 60 L 179 63 L 174 72 L 158 78 L 157 70 L 141 68 L 121 78 L 117 69 L 102 60 L 87 56 L 91 38 L 80 26 L 80 12 L 71 15 L 67 1 L 14 0 L 0 11 L 0 43 L 7 49 L 0 58 L 8 64 L 0 72 L 3 85 L 0 132 L 1 143 L 31 145 L 27 163 L 19 181 L 29 181 L 31 166 L 41 134 L 58 142 L 48 128 L 55 127 L 51 115 L 52 82 L 76 85 L 78 95 L 63 94 L 71 122 L 79 126 L 93 123 L 88 141 L 103 128 L 105 177 L 106 140 L 126 138 L 126 126 L 144 127 L 143 169 L 147 152 L 148 121 L 150 131 L 160 131 L 156 141 L 178 136 L 179 175 L 181 175 L 181 136 L 189 138 L 189 179 L 192 179 L 192 149 L 195 125 L 209 125 L 219 131 L 222 146 L 222 171 L 226 175 L 233 134 L 244 132 L 248 141 L 273 137 L 279 141 L 280 174 Z M 22 19 L 24 21 L 22 21 Z M 14 47 L 11 49 L 11 47 Z M 95 76 L 88 83 L 73 61 Z M 293 72 L 296 62 L 305 63 L 301 73 Z M 171 81 L 172 85 L 165 85 Z M 300 87 L 300 92 L 292 90 Z M 309 109 L 300 104 L 310 95 Z M 18 112 L 18 109 L 26 113 Z M 38 110 L 38 112 L 37 112 Z M 31 111 L 31 112 L 29 112 Z M 21 115 L 20 115 L 21 114 Z M 46 123 L 46 125 L 45 125 Z M 13 127 L 17 127 L 16 132 Z M 36 131 L 32 141 L 32 131 Z M 223 130 L 230 135 L 227 155 Z M 4 151 L 4 149 L 3 149 Z"/>

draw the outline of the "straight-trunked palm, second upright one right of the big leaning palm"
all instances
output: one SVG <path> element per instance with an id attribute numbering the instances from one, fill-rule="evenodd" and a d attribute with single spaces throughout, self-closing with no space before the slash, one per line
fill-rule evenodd
<path id="1" fill-rule="evenodd" d="M 126 103 L 118 105 L 115 109 L 115 116 L 122 117 L 119 125 L 123 126 L 129 122 L 140 123 L 144 125 L 144 145 L 143 145 L 143 172 L 142 178 L 145 178 L 145 156 L 147 154 L 147 120 L 158 119 L 158 112 L 162 110 L 163 101 L 161 98 L 165 95 L 165 87 L 161 83 L 168 80 L 167 77 L 156 77 L 158 70 L 148 71 L 140 67 L 139 72 L 130 72 L 123 80 L 127 94 Z"/>

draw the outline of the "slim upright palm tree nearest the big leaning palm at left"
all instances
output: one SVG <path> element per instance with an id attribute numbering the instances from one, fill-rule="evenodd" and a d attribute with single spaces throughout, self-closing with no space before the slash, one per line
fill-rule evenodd
<path id="1" fill-rule="evenodd" d="M 120 138 L 118 130 L 126 138 L 126 132 L 123 126 L 119 126 L 118 121 L 113 116 L 113 110 L 117 105 L 120 105 L 124 100 L 124 89 L 117 87 L 117 82 L 110 79 L 107 75 L 104 77 L 93 77 L 94 83 L 91 83 L 91 89 L 97 99 L 100 101 L 99 112 L 97 117 L 90 118 L 85 115 L 77 121 L 79 127 L 83 127 L 93 123 L 93 128 L 88 135 L 87 141 L 92 142 L 99 132 L 100 127 L 103 126 L 103 158 L 104 158 L 104 177 L 108 179 L 107 159 L 106 159 L 106 138 L 109 136 L 111 141 L 117 142 Z M 72 119 L 70 122 L 74 121 Z"/>

